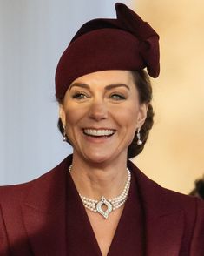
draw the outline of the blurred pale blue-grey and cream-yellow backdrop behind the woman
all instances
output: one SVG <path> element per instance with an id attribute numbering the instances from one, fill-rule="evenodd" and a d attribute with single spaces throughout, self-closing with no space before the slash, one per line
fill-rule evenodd
<path id="1" fill-rule="evenodd" d="M 161 38 L 155 126 L 133 161 L 160 185 L 188 193 L 204 173 L 204 2 L 120 2 Z M 56 127 L 56 64 L 84 22 L 115 17 L 115 3 L 0 0 L 0 185 L 35 179 L 71 152 Z"/>

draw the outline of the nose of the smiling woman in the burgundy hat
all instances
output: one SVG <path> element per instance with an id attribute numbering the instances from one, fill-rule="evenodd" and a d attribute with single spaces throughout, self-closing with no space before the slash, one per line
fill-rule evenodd
<path id="1" fill-rule="evenodd" d="M 95 119 L 95 121 L 100 121 L 102 119 L 108 118 L 107 105 L 103 100 L 95 100 L 89 109 L 89 118 Z"/>

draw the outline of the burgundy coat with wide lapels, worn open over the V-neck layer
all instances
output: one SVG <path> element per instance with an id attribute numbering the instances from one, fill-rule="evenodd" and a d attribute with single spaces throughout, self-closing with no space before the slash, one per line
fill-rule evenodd
<path id="1" fill-rule="evenodd" d="M 1 256 L 67 255 L 66 172 L 70 163 L 71 157 L 65 158 L 38 179 L 0 187 Z M 162 188 L 131 162 L 128 166 L 144 208 L 146 255 L 203 256 L 204 203 Z M 80 246 L 87 245 L 80 241 Z"/>

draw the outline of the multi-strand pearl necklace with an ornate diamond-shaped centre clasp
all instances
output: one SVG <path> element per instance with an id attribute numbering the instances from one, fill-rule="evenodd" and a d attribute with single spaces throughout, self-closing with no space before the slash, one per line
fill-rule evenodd
<path id="1" fill-rule="evenodd" d="M 72 165 L 69 166 L 69 172 L 71 172 L 71 169 L 72 169 Z M 95 200 L 95 199 L 86 198 L 79 193 L 79 196 L 82 199 L 83 206 L 92 212 L 100 213 L 104 219 L 108 219 L 109 213 L 120 208 L 122 205 L 124 205 L 124 203 L 128 199 L 128 192 L 129 192 L 130 180 L 131 180 L 131 173 L 128 167 L 127 167 L 127 172 L 128 172 L 128 179 L 126 181 L 126 184 L 122 193 L 118 197 L 113 199 L 106 199 L 105 197 L 102 196 L 101 200 Z M 102 210 L 103 205 L 106 206 L 105 211 Z"/>

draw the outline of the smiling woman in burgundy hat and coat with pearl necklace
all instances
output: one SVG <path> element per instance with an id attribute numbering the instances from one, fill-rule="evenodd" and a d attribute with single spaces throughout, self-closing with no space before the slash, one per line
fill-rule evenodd
<path id="1" fill-rule="evenodd" d="M 203 255 L 204 205 L 128 158 L 153 125 L 159 37 L 122 3 L 84 24 L 56 69 L 59 128 L 73 155 L 0 190 L 1 255 Z"/>

